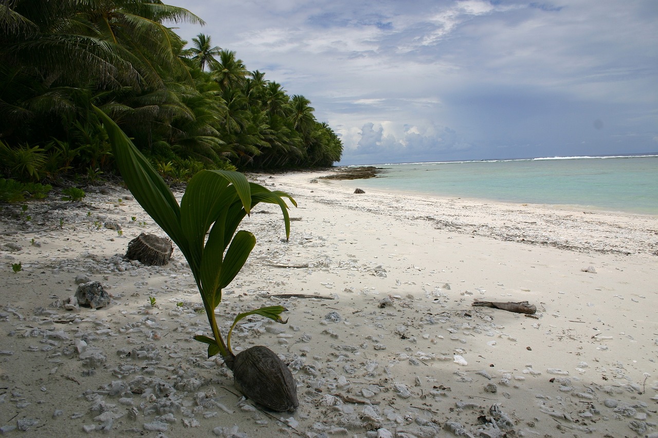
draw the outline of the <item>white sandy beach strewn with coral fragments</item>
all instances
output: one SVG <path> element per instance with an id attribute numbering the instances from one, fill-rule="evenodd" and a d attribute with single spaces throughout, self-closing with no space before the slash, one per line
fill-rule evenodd
<path id="1" fill-rule="evenodd" d="M 297 201 L 290 240 L 278 207 L 255 207 L 241 228 L 257 246 L 216 309 L 226 330 L 288 308 L 232 345 L 284 358 L 294 412 L 244 400 L 193 341 L 209 326 L 180 251 L 122 258 L 164 237 L 128 191 L 4 206 L 0 435 L 658 437 L 657 217 L 355 194 L 331 172 L 253 176 Z M 86 281 L 111 303 L 71 306 Z"/>

